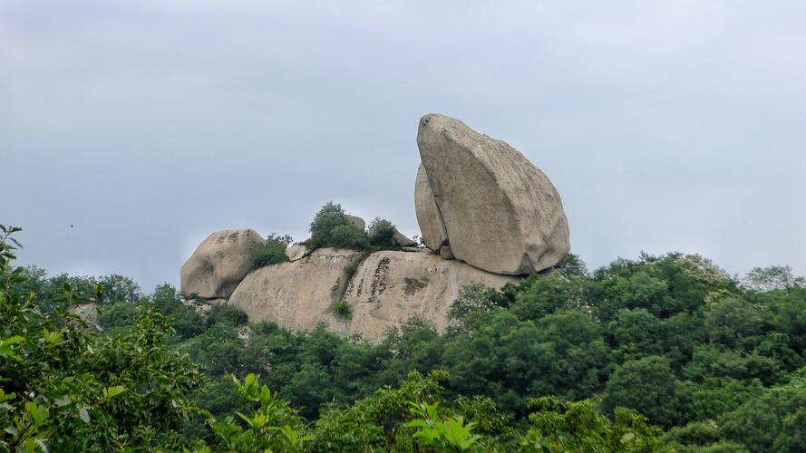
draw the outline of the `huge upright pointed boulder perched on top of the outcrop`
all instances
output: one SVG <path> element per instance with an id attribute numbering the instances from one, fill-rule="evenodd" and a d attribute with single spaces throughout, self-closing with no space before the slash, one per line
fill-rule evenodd
<path id="1" fill-rule="evenodd" d="M 568 255 L 557 189 L 517 149 L 439 114 L 422 117 L 417 146 L 456 259 L 520 275 Z"/>

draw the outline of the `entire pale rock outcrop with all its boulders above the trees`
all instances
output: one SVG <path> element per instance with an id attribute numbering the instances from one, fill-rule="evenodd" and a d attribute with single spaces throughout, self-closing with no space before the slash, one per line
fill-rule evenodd
<path id="1" fill-rule="evenodd" d="M 414 206 L 428 248 L 395 228 L 400 251 L 311 252 L 302 243 L 286 248 L 288 262 L 250 272 L 263 238 L 251 229 L 219 231 L 182 266 L 182 292 L 238 307 L 251 322 L 291 329 L 325 323 L 375 341 L 413 316 L 442 331 L 462 286 L 517 282 L 568 254 L 558 192 L 517 149 L 437 114 L 422 117 L 417 146 Z M 364 231 L 364 219 L 347 219 Z M 393 226 L 377 220 L 370 238 Z"/>

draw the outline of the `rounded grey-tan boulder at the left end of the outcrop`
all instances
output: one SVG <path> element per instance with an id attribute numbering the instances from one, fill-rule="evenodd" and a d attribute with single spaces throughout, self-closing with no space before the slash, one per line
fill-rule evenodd
<path id="1" fill-rule="evenodd" d="M 229 297 L 252 267 L 263 238 L 253 229 L 228 229 L 207 236 L 182 266 L 182 293 L 205 299 Z"/>

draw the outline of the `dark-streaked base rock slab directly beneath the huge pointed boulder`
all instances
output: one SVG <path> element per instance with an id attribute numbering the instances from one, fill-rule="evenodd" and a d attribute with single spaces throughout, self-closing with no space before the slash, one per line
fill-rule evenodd
<path id="1" fill-rule="evenodd" d="M 387 327 L 414 315 L 431 321 L 443 331 L 448 325 L 448 310 L 461 286 L 480 282 L 500 287 L 518 280 L 509 275 L 490 274 L 460 261 L 445 261 L 438 255 L 376 252 L 358 266 L 345 292 L 352 321 L 339 325 L 335 331 L 361 333 L 364 338 L 378 340 Z"/>

